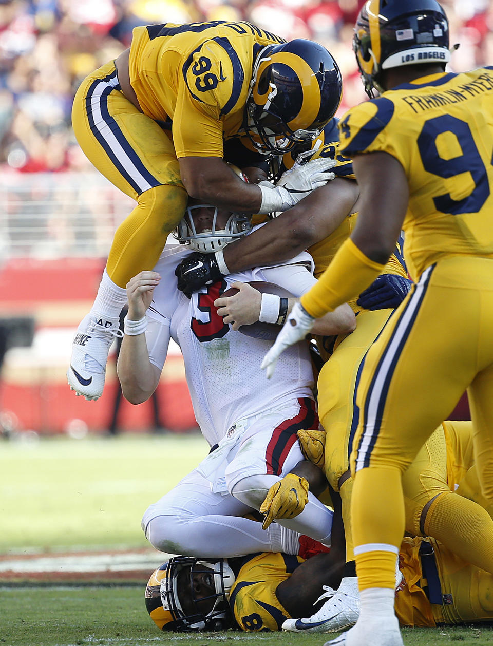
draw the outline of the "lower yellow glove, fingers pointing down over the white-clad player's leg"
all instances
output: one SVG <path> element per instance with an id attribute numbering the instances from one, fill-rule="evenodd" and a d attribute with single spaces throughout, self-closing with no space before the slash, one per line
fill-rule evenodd
<path id="1" fill-rule="evenodd" d="M 266 499 L 260 505 L 260 514 L 265 519 L 262 529 L 277 518 L 294 518 L 301 514 L 308 503 L 308 481 L 295 474 L 285 475 L 267 492 Z"/>

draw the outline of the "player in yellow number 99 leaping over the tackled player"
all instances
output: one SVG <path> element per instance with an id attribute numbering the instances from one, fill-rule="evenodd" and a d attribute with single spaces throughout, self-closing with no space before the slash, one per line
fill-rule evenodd
<path id="1" fill-rule="evenodd" d="M 253 167 L 312 140 L 337 110 L 341 88 L 337 64 L 318 43 L 286 43 L 226 21 L 137 27 L 131 47 L 83 81 L 72 109 L 76 138 L 137 205 L 116 231 L 96 301 L 76 333 L 72 390 L 100 397 L 125 286 L 156 264 L 187 193 L 231 211 L 269 213 L 326 181 L 317 163 L 282 187 L 249 185 L 223 160 Z"/>

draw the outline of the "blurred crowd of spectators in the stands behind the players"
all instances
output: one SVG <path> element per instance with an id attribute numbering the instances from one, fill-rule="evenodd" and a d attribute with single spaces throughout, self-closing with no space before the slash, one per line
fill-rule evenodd
<path id="1" fill-rule="evenodd" d="M 454 71 L 493 63 L 490 0 L 443 0 Z M 0 0 L 0 170 L 87 171 L 70 127 L 81 80 L 152 23 L 247 20 L 325 45 L 341 66 L 340 114 L 364 99 L 351 50 L 362 0 Z"/>

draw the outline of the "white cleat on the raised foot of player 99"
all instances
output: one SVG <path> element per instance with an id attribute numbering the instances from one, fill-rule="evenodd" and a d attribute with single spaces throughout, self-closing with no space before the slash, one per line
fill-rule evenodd
<path id="1" fill-rule="evenodd" d="M 90 312 L 83 318 L 74 336 L 72 357 L 67 370 L 70 390 L 96 401 L 103 394 L 108 353 L 116 337 L 123 337 L 120 318 L 108 318 Z"/>

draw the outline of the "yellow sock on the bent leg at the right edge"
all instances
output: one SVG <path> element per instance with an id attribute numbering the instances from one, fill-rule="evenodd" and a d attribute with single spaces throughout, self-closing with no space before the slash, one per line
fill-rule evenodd
<path id="1" fill-rule="evenodd" d="M 453 492 L 439 495 L 426 514 L 425 533 L 493 574 L 493 520 L 476 503 Z"/>

